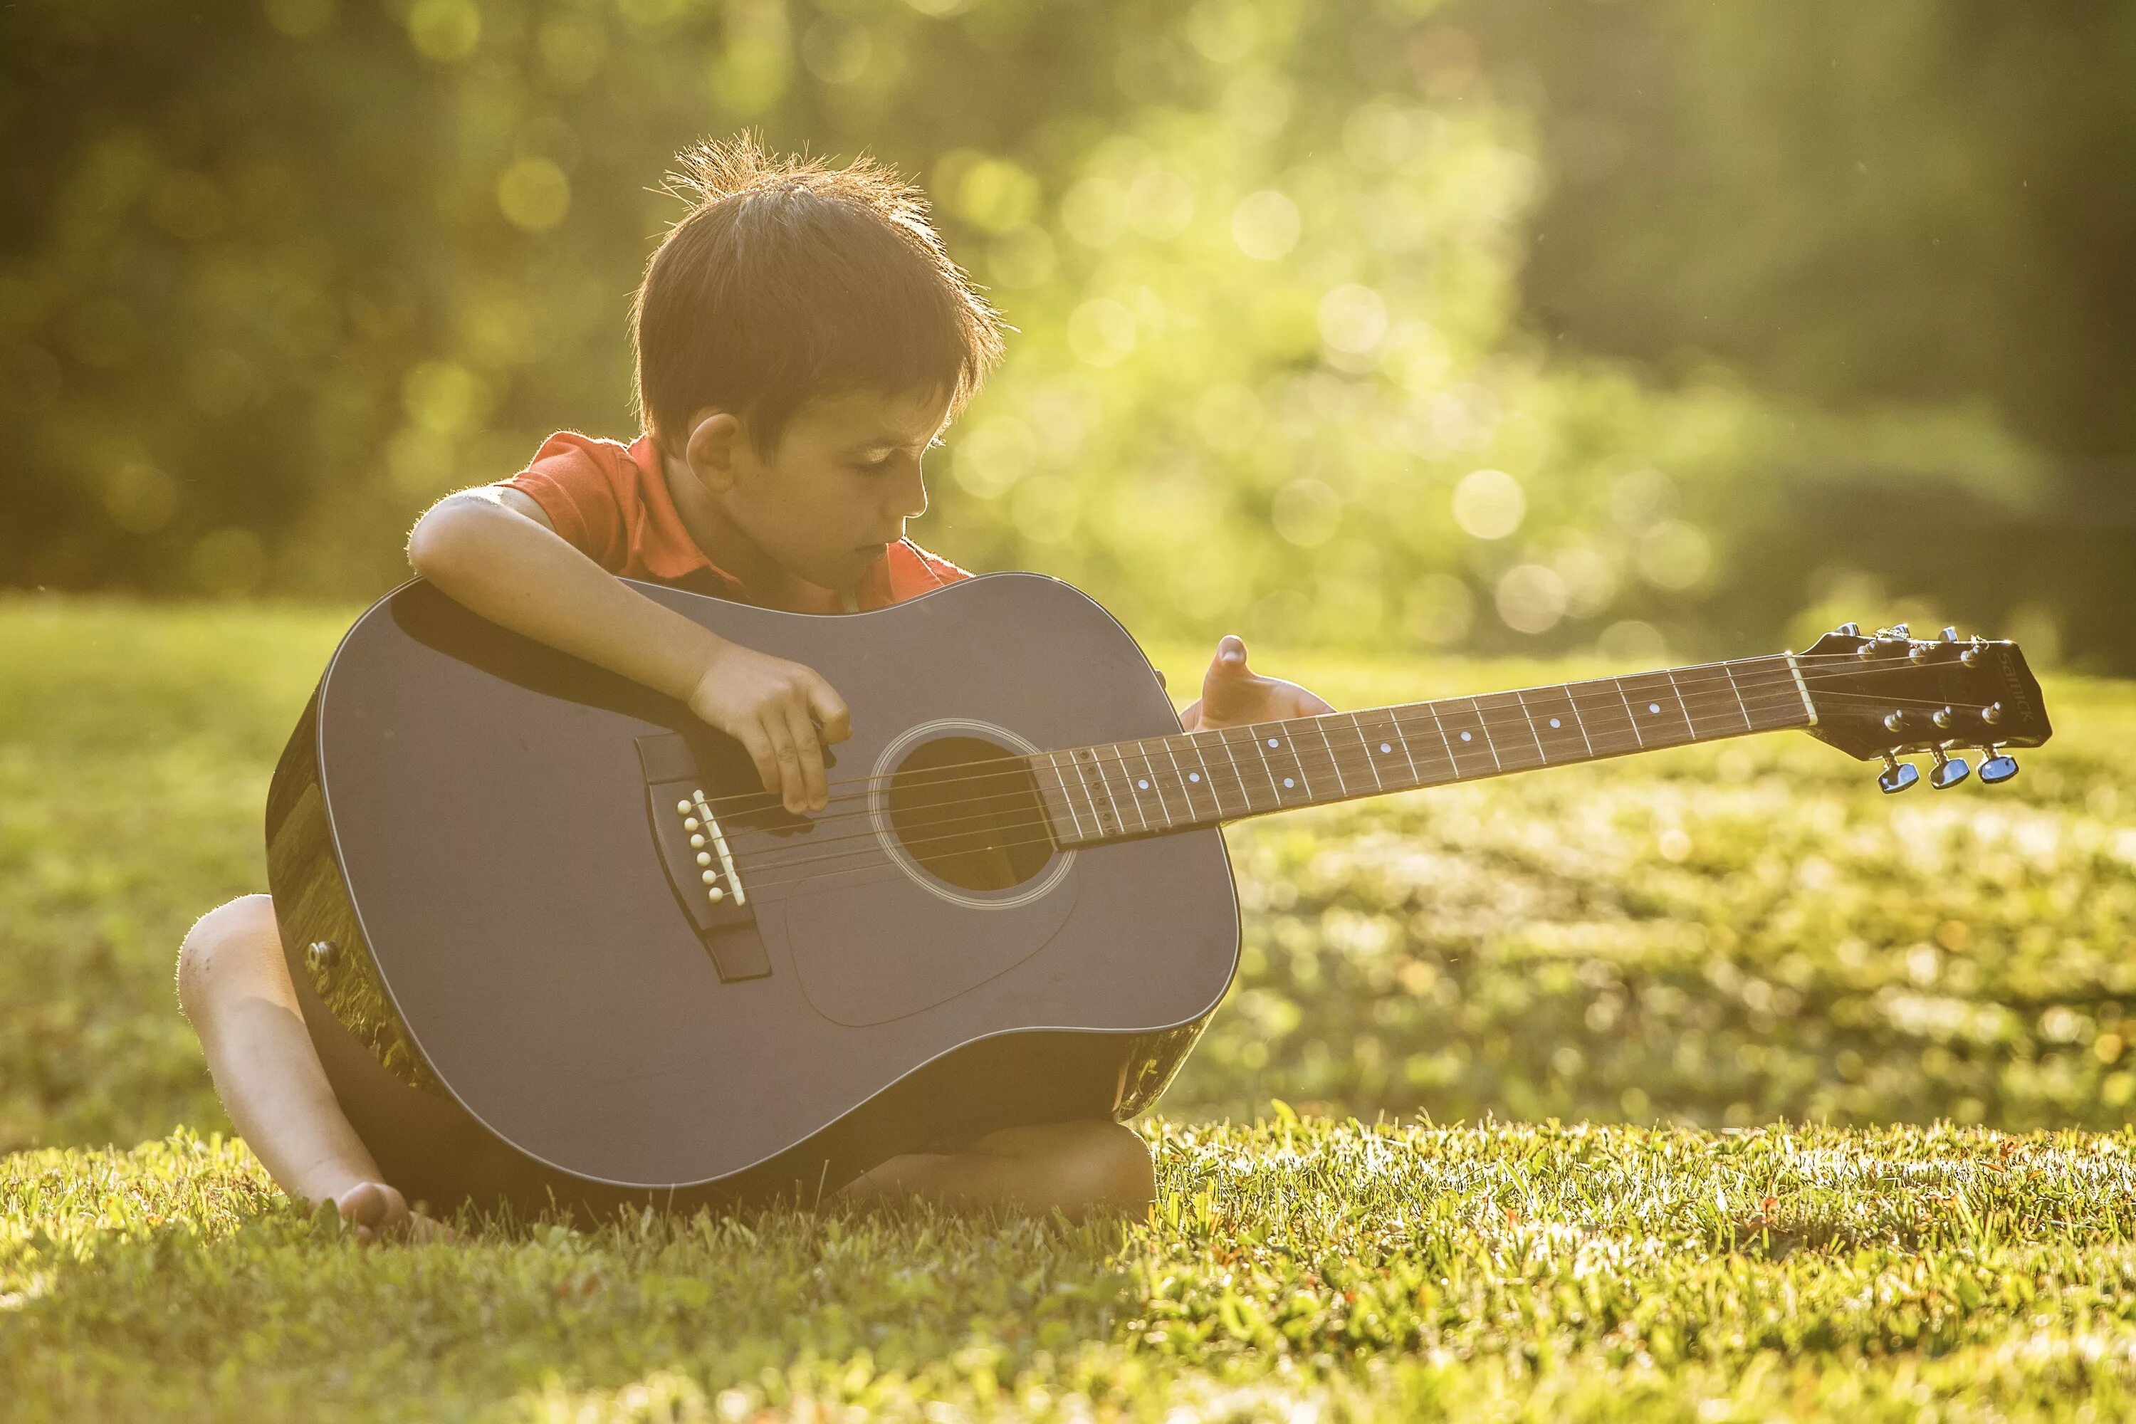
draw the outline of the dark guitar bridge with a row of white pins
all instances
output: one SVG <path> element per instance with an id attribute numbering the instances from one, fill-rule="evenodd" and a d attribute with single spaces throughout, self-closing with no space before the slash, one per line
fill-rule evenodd
<path id="1" fill-rule="evenodd" d="M 690 743 L 669 732 L 639 737 L 645 769 L 645 803 L 654 845 L 669 886 L 711 954 L 720 978 L 754 980 L 771 974 L 763 939 L 754 933 L 756 907 L 735 865 L 726 828 L 705 794 L 705 773 Z"/>

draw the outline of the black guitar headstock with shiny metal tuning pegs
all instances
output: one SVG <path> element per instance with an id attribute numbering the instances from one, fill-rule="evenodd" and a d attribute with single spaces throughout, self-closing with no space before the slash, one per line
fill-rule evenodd
<path id="1" fill-rule="evenodd" d="M 1860 760 L 1884 760 L 1878 786 L 1903 792 L 1920 771 L 1901 756 L 1933 758 L 1929 786 L 1957 786 L 1969 773 L 1965 747 L 1980 747 L 1980 779 L 2016 775 L 2006 747 L 2038 747 L 2055 728 L 2046 722 L 2040 683 L 2016 643 L 1914 638 L 1905 623 L 1863 636 L 1841 623 L 1796 653 L 1796 666 L 1818 724 L 1809 734 Z"/>

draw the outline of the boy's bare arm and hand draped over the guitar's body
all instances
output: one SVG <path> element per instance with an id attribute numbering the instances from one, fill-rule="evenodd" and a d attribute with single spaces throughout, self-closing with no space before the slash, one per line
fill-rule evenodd
<path id="1" fill-rule="evenodd" d="M 822 743 L 850 730 L 831 683 L 632 591 L 521 491 L 446 495 L 408 534 L 408 564 L 493 623 L 688 702 L 748 749 L 788 811 L 824 807 Z"/>

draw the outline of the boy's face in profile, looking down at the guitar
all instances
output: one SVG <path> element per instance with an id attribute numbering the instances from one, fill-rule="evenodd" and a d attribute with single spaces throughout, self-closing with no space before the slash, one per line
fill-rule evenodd
<path id="1" fill-rule="evenodd" d="M 948 421 L 948 395 L 846 391 L 801 406 L 767 459 L 728 442 L 731 482 L 713 495 L 780 568 L 822 589 L 852 587 L 906 521 L 927 512 L 921 457 Z"/>

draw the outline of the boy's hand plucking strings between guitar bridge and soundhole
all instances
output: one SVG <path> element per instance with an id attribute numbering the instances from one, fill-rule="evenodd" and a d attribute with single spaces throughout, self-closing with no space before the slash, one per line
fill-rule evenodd
<path id="1" fill-rule="evenodd" d="M 690 711 L 748 749 L 790 813 L 824 807 L 822 747 L 846 741 L 852 722 L 814 668 L 728 643 L 696 679 Z"/>

